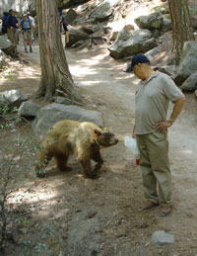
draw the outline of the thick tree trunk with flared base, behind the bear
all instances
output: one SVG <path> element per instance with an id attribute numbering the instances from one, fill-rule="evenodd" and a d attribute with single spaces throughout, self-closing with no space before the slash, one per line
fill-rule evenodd
<path id="1" fill-rule="evenodd" d="M 74 88 L 64 53 L 59 29 L 56 0 L 35 0 L 41 78 L 35 98 L 44 97 L 50 101 L 56 90 L 63 91 L 69 99 L 82 102 L 81 95 Z"/>

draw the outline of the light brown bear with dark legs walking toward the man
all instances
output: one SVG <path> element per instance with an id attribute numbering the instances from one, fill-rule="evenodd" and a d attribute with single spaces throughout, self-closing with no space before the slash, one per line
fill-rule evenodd
<path id="1" fill-rule="evenodd" d="M 90 122 L 60 121 L 50 128 L 41 142 L 41 149 L 37 154 L 35 173 L 37 177 L 44 177 L 43 171 L 52 157 L 55 158 L 57 168 L 69 171 L 67 166 L 69 157 L 76 153 L 86 176 L 97 177 L 103 160 L 99 149 L 115 145 L 118 139 L 114 134 L 102 130 Z M 97 164 L 92 170 L 91 159 Z"/>

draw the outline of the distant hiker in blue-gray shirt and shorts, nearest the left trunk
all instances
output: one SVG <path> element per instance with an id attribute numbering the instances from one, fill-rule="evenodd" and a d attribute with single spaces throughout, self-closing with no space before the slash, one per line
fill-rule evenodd
<path id="1" fill-rule="evenodd" d="M 28 53 L 27 43 L 29 43 L 30 45 L 30 52 L 33 52 L 33 47 L 32 47 L 33 25 L 31 20 L 28 18 L 27 14 L 23 15 L 23 18 L 20 22 L 20 28 L 24 36 L 24 46 L 25 46 L 26 53 Z"/>

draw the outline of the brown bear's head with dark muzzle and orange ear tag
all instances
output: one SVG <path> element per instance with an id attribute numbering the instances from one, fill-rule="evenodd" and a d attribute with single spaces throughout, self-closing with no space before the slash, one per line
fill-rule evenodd
<path id="1" fill-rule="evenodd" d="M 99 131 L 95 129 L 95 133 L 93 134 L 93 138 L 100 148 L 109 147 L 111 145 L 115 145 L 118 143 L 118 139 L 115 135 L 109 131 Z"/>

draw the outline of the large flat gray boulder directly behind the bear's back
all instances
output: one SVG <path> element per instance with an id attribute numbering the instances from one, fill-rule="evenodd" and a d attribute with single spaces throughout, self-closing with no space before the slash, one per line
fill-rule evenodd
<path id="1" fill-rule="evenodd" d="M 97 111 L 52 103 L 37 112 L 33 121 L 33 131 L 42 138 L 49 128 L 61 120 L 88 121 L 98 125 L 100 128 L 103 127 L 101 113 Z"/>

